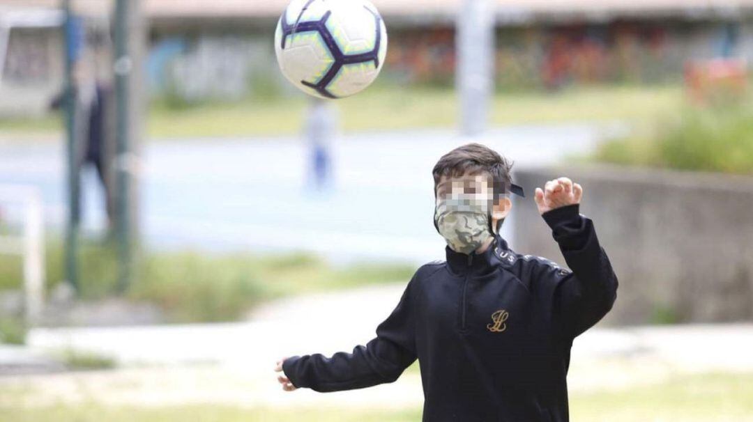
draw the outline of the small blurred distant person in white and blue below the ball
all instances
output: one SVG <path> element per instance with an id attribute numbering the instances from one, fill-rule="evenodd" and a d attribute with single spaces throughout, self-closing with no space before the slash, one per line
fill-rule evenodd
<path id="1" fill-rule="evenodd" d="M 306 117 L 306 141 L 309 144 L 311 172 L 316 190 L 331 186 L 331 146 L 337 135 L 337 111 L 325 100 L 315 99 Z"/>

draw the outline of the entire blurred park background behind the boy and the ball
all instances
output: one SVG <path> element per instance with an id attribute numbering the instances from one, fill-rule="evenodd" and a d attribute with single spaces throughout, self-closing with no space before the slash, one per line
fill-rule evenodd
<path id="1" fill-rule="evenodd" d="M 282 77 L 285 0 L 0 0 L 0 420 L 420 420 L 418 363 L 285 393 L 444 259 L 431 168 L 584 186 L 620 290 L 573 420 L 753 420 L 753 1 L 373 0 L 372 87 Z"/>

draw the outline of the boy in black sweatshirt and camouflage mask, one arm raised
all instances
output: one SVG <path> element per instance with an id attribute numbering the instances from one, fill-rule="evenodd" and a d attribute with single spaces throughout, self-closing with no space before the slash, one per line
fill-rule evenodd
<path id="1" fill-rule="evenodd" d="M 566 375 L 575 336 L 611 309 L 617 277 L 583 195 L 568 178 L 537 188 L 535 202 L 572 272 L 510 250 L 498 235 L 511 210 L 511 164 L 480 144 L 434 166 L 434 226 L 447 260 L 416 271 L 377 337 L 352 354 L 279 361 L 283 390 L 327 392 L 395 381 L 416 359 L 424 421 L 566 421 Z"/>

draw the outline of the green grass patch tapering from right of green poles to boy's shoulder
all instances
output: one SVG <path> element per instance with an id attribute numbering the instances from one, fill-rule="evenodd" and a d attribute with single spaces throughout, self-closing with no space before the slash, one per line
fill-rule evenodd
<path id="1" fill-rule="evenodd" d="M 145 260 L 130 297 L 157 303 L 179 322 L 236 320 L 270 299 L 390 281 L 407 283 L 414 270 L 369 264 L 334 269 L 307 254 L 156 254 Z"/>

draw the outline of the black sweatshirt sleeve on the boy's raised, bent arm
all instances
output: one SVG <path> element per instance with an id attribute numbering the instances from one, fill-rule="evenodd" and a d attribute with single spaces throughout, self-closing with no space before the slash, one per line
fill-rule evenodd
<path id="1" fill-rule="evenodd" d="M 575 337 L 607 314 L 617 299 L 617 276 L 605 250 L 599 245 L 593 221 L 568 205 L 543 214 L 554 240 L 572 272 L 562 278 L 554 292 L 554 313 L 566 334 Z"/>

